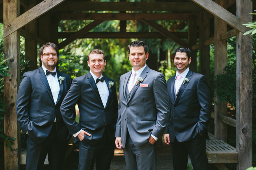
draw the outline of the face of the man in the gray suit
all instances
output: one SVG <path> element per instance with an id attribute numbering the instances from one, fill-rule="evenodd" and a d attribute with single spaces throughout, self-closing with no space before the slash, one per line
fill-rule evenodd
<path id="1" fill-rule="evenodd" d="M 129 60 L 135 71 L 145 66 L 148 59 L 148 53 L 145 54 L 143 46 L 131 47 L 129 53 Z"/>

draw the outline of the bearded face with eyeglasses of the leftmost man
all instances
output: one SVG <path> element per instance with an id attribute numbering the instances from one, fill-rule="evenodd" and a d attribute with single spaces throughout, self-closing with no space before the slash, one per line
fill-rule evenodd
<path id="1" fill-rule="evenodd" d="M 52 47 L 45 47 L 43 50 L 43 54 L 45 53 L 57 53 L 56 50 Z M 56 64 L 58 62 L 58 56 L 45 56 L 45 55 L 40 55 L 41 61 L 43 66 L 48 69 L 49 71 L 54 71 Z"/>

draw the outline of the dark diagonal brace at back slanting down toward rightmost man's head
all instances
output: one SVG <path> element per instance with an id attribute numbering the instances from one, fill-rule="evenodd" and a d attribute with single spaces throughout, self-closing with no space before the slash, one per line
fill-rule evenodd
<path id="1" fill-rule="evenodd" d="M 176 44 L 179 44 L 180 46 L 185 46 L 188 47 L 187 42 L 185 42 L 184 40 L 180 39 L 179 37 L 177 37 L 176 35 L 174 35 L 173 33 L 171 33 L 170 31 L 168 31 L 166 28 L 160 26 L 158 23 L 156 23 L 155 21 L 150 21 L 150 20 L 143 20 L 143 22 L 145 22 L 146 24 L 148 24 L 149 26 L 153 27 L 154 29 L 156 29 L 158 32 L 160 32 L 162 35 L 164 35 L 165 37 L 169 38 L 170 40 L 174 41 Z"/>

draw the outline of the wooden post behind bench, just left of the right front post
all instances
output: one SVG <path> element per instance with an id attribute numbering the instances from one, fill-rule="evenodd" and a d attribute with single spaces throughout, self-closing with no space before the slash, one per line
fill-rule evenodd
<path id="1" fill-rule="evenodd" d="M 225 0 L 215 0 L 222 7 Z M 226 40 L 220 40 L 220 35 L 227 32 L 227 24 L 218 17 L 214 17 L 214 75 L 223 74 L 223 69 L 227 65 L 227 43 Z M 218 105 L 214 106 L 214 135 L 216 139 L 227 141 L 227 124 L 219 121 L 219 115 L 227 114 L 227 102 L 219 102 L 218 97 L 214 100 Z"/>

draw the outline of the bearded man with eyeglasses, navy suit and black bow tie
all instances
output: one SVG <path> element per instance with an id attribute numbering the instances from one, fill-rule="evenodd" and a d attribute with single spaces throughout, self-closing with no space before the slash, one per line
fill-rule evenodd
<path id="1" fill-rule="evenodd" d="M 27 139 L 26 170 L 42 170 L 47 154 L 50 169 L 63 170 L 72 135 L 59 108 L 72 79 L 56 71 L 59 50 L 54 43 L 43 44 L 39 55 L 42 66 L 24 73 L 16 101 L 17 119 Z"/>

